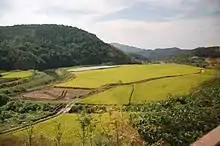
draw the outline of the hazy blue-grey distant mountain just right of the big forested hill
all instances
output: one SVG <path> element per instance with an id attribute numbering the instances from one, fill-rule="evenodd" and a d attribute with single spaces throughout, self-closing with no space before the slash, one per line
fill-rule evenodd
<path id="1" fill-rule="evenodd" d="M 112 43 L 111 45 L 115 46 L 116 48 L 119 48 L 120 50 L 124 52 L 135 53 L 145 58 L 148 58 L 149 60 L 152 60 L 152 61 L 165 60 L 167 58 L 170 58 L 172 56 L 176 56 L 176 55 L 179 55 L 185 52 L 184 50 L 181 50 L 179 48 L 146 50 L 146 49 L 122 45 L 118 43 Z"/>

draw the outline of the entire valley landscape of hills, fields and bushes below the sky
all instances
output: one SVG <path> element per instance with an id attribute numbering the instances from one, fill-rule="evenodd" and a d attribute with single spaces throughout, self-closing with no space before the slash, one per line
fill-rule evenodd
<path id="1" fill-rule="evenodd" d="M 147 50 L 50 24 L 0 34 L 0 146 L 183 146 L 220 125 L 218 46 Z"/>

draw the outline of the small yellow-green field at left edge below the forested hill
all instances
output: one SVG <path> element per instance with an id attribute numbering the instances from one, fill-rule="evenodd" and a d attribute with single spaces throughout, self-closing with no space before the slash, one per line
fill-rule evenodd
<path id="1" fill-rule="evenodd" d="M 33 73 L 31 71 L 10 71 L 3 72 L 1 78 L 27 78 Z"/>

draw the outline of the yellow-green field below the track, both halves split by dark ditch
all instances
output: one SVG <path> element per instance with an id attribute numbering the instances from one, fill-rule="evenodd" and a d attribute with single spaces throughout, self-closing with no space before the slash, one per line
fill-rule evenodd
<path id="1" fill-rule="evenodd" d="M 212 74 L 204 73 L 134 84 L 131 102 L 157 101 L 166 99 L 169 94 L 187 94 L 192 88 L 212 77 Z M 119 86 L 82 99 L 79 102 L 88 104 L 128 104 L 131 90 L 132 85 Z"/>

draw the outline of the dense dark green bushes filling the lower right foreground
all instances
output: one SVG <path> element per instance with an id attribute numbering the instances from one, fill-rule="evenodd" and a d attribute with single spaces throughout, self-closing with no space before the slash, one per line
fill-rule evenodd
<path id="1" fill-rule="evenodd" d="M 220 125 L 220 78 L 189 95 L 130 106 L 134 127 L 149 144 L 185 146 Z"/>

